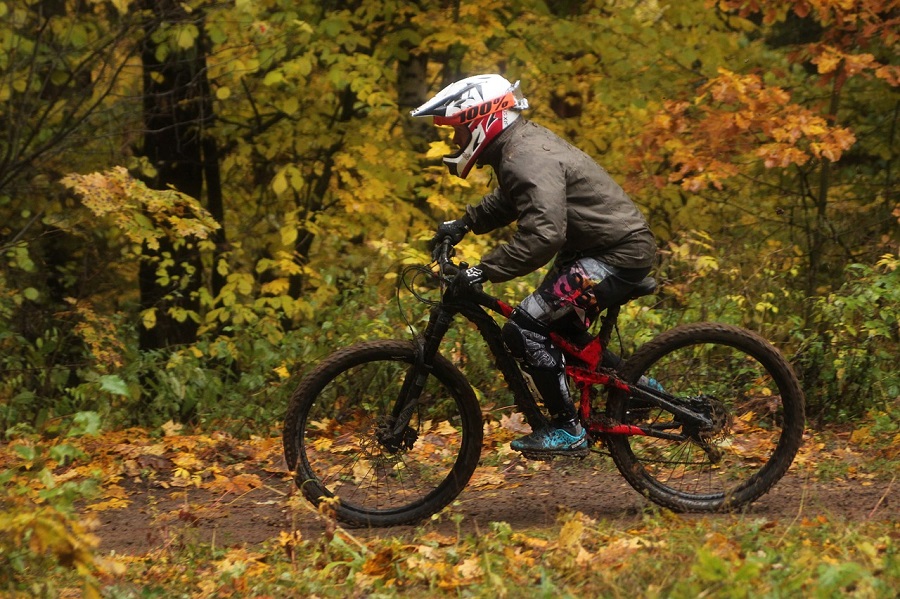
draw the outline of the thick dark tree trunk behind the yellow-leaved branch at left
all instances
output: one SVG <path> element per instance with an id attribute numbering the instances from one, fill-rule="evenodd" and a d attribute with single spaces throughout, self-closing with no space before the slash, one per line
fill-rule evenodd
<path id="1" fill-rule="evenodd" d="M 210 210 L 223 220 L 215 142 L 204 139 L 204 125 L 212 118 L 202 16 L 187 13 L 179 2 L 146 2 L 154 19 L 146 26 L 141 51 L 144 81 L 143 154 L 156 168 L 147 184 L 153 189 L 174 187 L 200 199 L 203 181 L 210 184 Z M 193 47 L 176 51 L 168 40 L 153 41 L 164 27 L 194 25 Z M 160 45 L 165 45 L 161 49 Z M 167 51 L 166 51 L 167 50 Z M 224 244 L 219 232 L 217 246 Z M 142 328 L 142 350 L 192 343 L 197 323 L 189 316 L 199 310 L 202 284 L 200 251 L 195 239 L 163 239 L 158 250 L 144 247 L 140 267 L 141 308 L 156 308 L 156 326 Z M 160 277 L 164 269 L 166 277 Z M 186 317 L 186 315 L 188 315 Z"/>

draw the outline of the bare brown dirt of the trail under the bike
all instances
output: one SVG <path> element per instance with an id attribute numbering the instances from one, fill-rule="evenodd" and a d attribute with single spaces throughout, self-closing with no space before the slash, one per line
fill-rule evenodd
<path id="1" fill-rule="evenodd" d="M 100 526 L 95 533 L 101 540 L 100 549 L 119 554 L 145 554 L 167 543 L 252 545 L 277 537 L 280 531 L 291 530 L 292 520 L 305 538 L 322 533 L 324 524 L 315 512 L 290 509 L 293 484 L 284 474 L 263 471 L 258 474 L 264 486 L 241 495 L 213 495 L 196 488 L 164 489 L 128 483 L 131 504 L 98 514 Z M 476 472 L 474 483 L 478 483 L 477 476 Z M 484 530 L 494 521 L 508 522 L 516 530 L 547 527 L 554 523 L 559 509 L 621 522 L 625 527 L 640 520 L 648 505 L 608 464 L 604 466 L 599 460 L 584 463 L 557 460 L 544 470 L 509 473 L 499 484 L 470 485 L 458 498 L 452 513 L 462 516 L 459 526 L 465 534 Z M 896 480 L 816 482 L 789 473 L 747 511 L 749 517 L 787 522 L 798 516 L 812 519 L 822 514 L 850 522 L 897 521 L 900 483 Z M 457 523 L 452 520 L 443 518 L 422 526 L 456 534 Z M 352 534 L 359 538 L 409 537 L 415 530 L 413 526 L 356 529 Z"/>

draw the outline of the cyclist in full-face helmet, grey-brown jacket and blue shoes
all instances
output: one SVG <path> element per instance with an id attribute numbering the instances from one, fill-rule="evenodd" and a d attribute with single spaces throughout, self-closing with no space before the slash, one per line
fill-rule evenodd
<path id="1" fill-rule="evenodd" d="M 524 453 L 581 454 L 586 433 L 569 395 L 562 351 L 551 331 L 582 337 L 607 307 L 621 303 L 650 272 L 656 243 L 647 221 L 609 174 L 581 150 L 521 117 L 528 101 L 500 75 L 453 83 L 412 111 L 454 129 L 459 151 L 444 156 L 450 173 L 466 178 L 490 165 L 498 186 L 456 220 L 442 223 L 432 247 L 459 243 L 516 222 L 509 243 L 461 276 L 469 284 L 526 275 L 555 258 L 538 288 L 503 327 L 510 352 L 530 376 L 551 426 L 512 442 Z M 574 340 L 574 339 L 573 339 Z"/>

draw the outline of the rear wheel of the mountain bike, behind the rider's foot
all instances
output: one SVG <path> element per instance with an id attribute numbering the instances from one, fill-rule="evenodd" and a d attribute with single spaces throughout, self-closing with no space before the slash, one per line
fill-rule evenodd
<path id="1" fill-rule="evenodd" d="M 632 487 L 676 511 L 733 510 L 766 493 L 800 447 L 804 398 L 790 364 L 762 337 L 716 323 L 684 325 L 650 341 L 622 366 L 651 377 L 717 423 L 690 431 L 670 413 L 611 391 L 607 416 L 691 439 L 610 435 L 610 454 Z"/>

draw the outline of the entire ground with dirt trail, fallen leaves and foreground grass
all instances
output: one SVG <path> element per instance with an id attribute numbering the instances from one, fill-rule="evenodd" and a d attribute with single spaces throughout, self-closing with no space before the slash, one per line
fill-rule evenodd
<path id="1" fill-rule="evenodd" d="M 4 522 L 18 526 L 0 547 L 0 594 L 896 596 L 900 432 L 883 414 L 807 433 L 787 475 L 731 514 L 660 509 L 602 451 L 527 461 L 509 449 L 521 433 L 512 418 L 486 424 L 459 497 L 381 529 L 343 527 L 298 494 L 275 431 L 16 440 L 0 447 Z M 75 513 L 53 508 L 71 501 Z"/>

